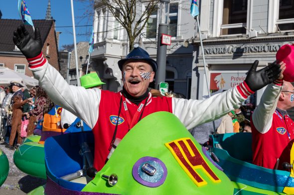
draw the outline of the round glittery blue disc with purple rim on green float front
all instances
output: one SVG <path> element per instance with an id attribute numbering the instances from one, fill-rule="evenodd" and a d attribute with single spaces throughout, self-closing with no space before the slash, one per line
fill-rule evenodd
<path id="1" fill-rule="evenodd" d="M 155 173 L 148 174 L 144 171 L 143 166 L 148 165 L 152 169 L 155 169 Z M 158 158 L 146 156 L 140 158 L 133 166 L 133 177 L 140 184 L 147 187 L 158 187 L 162 185 L 167 176 L 167 169 L 164 163 Z"/>

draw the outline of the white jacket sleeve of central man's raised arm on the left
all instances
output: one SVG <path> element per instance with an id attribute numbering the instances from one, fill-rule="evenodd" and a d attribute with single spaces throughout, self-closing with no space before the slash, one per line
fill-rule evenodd
<path id="1" fill-rule="evenodd" d="M 30 63 L 30 62 L 29 62 Z M 79 117 L 93 129 L 99 116 L 101 90 L 69 85 L 61 74 L 45 60 L 42 66 L 29 68 L 51 100 Z"/>

